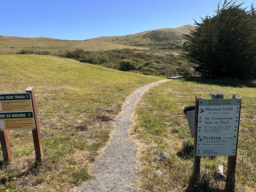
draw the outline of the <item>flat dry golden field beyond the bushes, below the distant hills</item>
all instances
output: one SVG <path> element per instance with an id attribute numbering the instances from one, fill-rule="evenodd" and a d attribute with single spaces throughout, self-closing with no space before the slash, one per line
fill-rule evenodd
<path id="1" fill-rule="evenodd" d="M 80 41 L 80 40 L 61 40 L 53 38 L 26 38 L 13 36 L 0 36 L 0 53 L 15 53 L 21 49 L 30 49 L 36 51 L 49 51 L 57 53 L 63 50 L 74 50 L 81 48 L 84 50 L 109 50 L 120 48 L 137 48 L 146 49 L 133 46 L 126 46 L 115 44 L 113 42 L 101 42 L 96 40 Z"/>

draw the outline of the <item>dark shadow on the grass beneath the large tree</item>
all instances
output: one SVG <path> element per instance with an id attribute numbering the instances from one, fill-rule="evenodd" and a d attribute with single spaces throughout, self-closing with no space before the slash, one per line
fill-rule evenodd
<path id="1" fill-rule="evenodd" d="M 255 80 L 239 80 L 233 78 L 210 78 L 210 77 L 183 77 L 184 80 L 190 82 L 196 82 L 201 84 L 213 84 L 213 85 L 220 85 L 220 86 L 232 86 L 232 87 L 256 87 Z"/>

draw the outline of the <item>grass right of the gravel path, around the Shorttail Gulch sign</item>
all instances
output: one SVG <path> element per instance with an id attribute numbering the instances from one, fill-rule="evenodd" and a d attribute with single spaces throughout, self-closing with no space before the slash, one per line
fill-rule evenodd
<path id="1" fill-rule="evenodd" d="M 188 183 L 192 174 L 193 139 L 183 108 L 194 105 L 195 95 L 209 98 L 210 93 L 224 93 L 226 98 L 232 98 L 232 94 L 242 96 L 236 190 L 256 192 L 256 89 L 206 82 L 202 78 L 160 84 L 150 89 L 139 103 L 136 110 L 138 121 L 131 131 L 139 145 L 141 192 L 192 191 Z M 157 152 L 163 151 L 168 152 L 171 158 L 154 161 Z M 202 158 L 202 172 L 206 172 L 205 181 L 210 183 L 202 184 L 201 187 L 205 188 L 200 192 L 222 192 L 225 182 L 209 179 L 217 172 L 220 164 L 225 165 L 226 171 L 226 156 Z"/>

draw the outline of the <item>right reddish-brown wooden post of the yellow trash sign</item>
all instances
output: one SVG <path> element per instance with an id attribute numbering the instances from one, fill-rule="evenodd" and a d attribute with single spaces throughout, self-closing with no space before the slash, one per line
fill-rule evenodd
<path id="1" fill-rule="evenodd" d="M 32 134 L 33 134 L 33 141 L 34 141 L 35 152 L 36 152 L 36 159 L 37 161 L 43 161 L 44 154 L 43 154 L 43 147 L 42 147 L 42 141 L 41 141 L 41 133 L 39 129 L 39 121 L 37 117 L 37 106 L 36 106 L 36 97 L 35 97 L 34 87 L 27 87 L 26 92 L 30 93 L 32 106 L 34 109 L 33 115 L 35 119 L 36 129 L 32 130 Z"/>

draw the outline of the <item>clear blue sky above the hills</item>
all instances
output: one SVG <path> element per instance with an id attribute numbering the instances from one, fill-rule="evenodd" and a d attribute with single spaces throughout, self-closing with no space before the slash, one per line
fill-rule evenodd
<path id="1" fill-rule="evenodd" d="M 0 0 L 0 35 L 60 39 L 134 34 L 193 24 L 219 0 Z M 249 7 L 256 0 L 237 0 Z"/>

